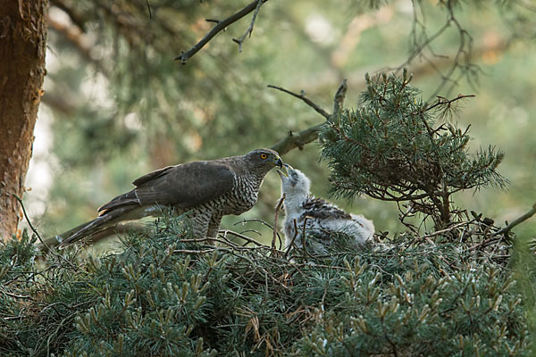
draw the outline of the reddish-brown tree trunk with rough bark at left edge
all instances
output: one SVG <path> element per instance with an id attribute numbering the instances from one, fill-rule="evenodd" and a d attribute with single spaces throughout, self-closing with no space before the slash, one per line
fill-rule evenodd
<path id="1" fill-rule="evenodd" d="M 48 0 L 1 0 L 0 239 L 16 232 L 43 95 Z"/>

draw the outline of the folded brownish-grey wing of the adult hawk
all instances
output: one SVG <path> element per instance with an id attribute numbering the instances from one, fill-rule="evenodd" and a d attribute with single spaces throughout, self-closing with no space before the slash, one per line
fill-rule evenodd
<path id="1" fill-rule="evenodd" d="M 155 170 L 136 179 L 130 192 L 98 209 L 101 215 L 125 205 L 173 205 L 189 208 L 230 192 L 235 173 L 223 162 L 188 162 Z"/>

